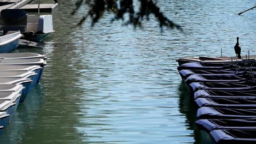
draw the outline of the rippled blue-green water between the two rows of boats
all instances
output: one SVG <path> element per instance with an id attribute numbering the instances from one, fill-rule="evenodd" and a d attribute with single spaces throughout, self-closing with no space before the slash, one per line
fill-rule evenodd
<path id="1" fill-rule="evenodd" d="M 51 2 L 51 1 L 45 1 Z M 75 1 L 70 2 L 74 5 Z M 206 143 L 196 130 L 196 106 L 175 59 L 254 52 L 256 11 L 236 13 L 254 1 L 159 1 L 184 32 L 160 33 L 109 23 L 72 26 L 69 2 L 54 13 L 56 32 L 44 49 L 19 49 L 48 57 L 42 81 L 18 107 L 1 143 Z M 203 139 L 202 139 L 203 137 Z"/>

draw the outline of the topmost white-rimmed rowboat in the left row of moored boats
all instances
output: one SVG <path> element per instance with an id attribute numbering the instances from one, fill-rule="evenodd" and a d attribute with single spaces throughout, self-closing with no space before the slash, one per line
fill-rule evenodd
<path id="1" fill-rule="evenodd" d="M 17 53 L 0 53 L 1 59 L 32 59 L 32 58 L 41 58 L 47 59 L 45 56 L 38 53 L 32 52 L 17 52 Z"/>

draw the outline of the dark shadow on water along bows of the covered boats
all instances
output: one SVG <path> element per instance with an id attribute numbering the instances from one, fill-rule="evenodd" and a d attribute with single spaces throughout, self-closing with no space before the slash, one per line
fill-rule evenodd
<path id="1" fill-rule="evenodd" d="M 198 106 L 196 103 L 194 103 L 193 97 L 191 96 L 189 92 L 189 88 L 187 85 L 181 82 L 179 84 L 179 112 L 185 114 L 187 123 L 188 123 L 188 128 L 189 130 L 194 130 L 194 139 L 195 139 L 195 144 L 204 144 L 204 143 L 215 143 L 213 138 L 211 137 L 210 134 L 206 133 L 206 131 L 199 130 L 196 127 L 195 121 L 197 120 L 196 118 L 196 113 Z"/>

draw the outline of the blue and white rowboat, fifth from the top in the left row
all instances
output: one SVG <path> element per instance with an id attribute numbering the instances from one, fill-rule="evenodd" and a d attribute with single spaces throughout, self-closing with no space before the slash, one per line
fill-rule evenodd
<path id="1" fill-rule="evenodd" d="M 31 79 L 20 79 L 15 77 L 0 77 L 0 81 L 2 82 L 0 84 L 20 84 L 25 87 L 22 90 L 20 102 L 24 101 L 27 97 L 27 94 L 30 92 L 30 88 L 32 87 L 31 85 L 33 82 Z"/>

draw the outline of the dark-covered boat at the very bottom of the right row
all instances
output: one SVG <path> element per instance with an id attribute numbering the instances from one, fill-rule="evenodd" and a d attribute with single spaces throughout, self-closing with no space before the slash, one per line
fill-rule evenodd
<path id="1" fill-rule="evenodd" d="M 218 143 L 225 144 L 255 144 L 256 143 L 256 130 L 243 129 L 243 130 L 212 130 L 211 136 Z"/>

